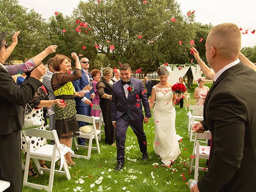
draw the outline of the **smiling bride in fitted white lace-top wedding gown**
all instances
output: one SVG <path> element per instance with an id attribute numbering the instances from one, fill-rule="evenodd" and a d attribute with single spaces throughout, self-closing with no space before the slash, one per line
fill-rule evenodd
<path id="1" fill-rule="evenodd" d="M 175 130 L 176 112 L 173 102 L 176 100 L 176 94 L 172 94 L 172 85 L 167 82 L 169 72 L 166 66 L 160 66 L 157 69 L 160 83 L 153 86 L 150 109 L 153 108 L 154 102 L 154 124 L 155 140 L 154 150 L 160 156 L 166 166 L 170 166 L 180 155 L 180 148 Z"/>

